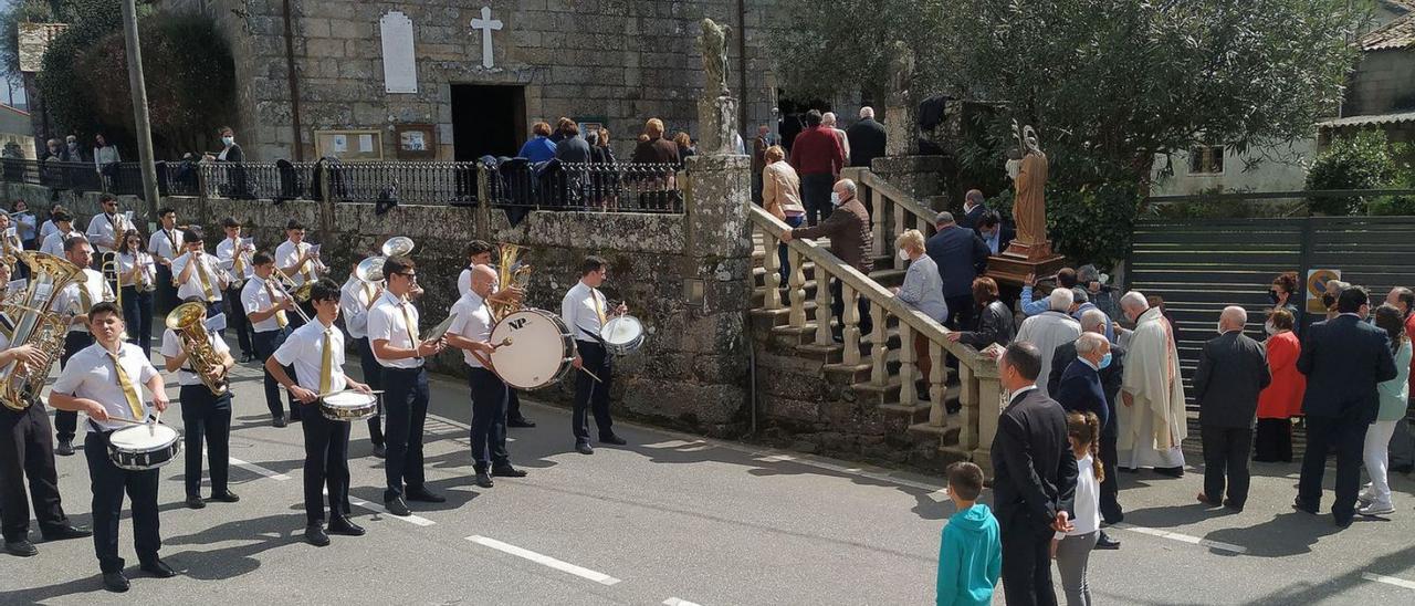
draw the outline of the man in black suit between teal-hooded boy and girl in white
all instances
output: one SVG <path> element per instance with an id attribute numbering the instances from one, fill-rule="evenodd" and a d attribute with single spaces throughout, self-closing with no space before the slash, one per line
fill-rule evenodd
<path id="1" fill-rule="evenodd" d="M 998 362 L 1012 401 L 998 416 L 992 440 L 993 503 L 1002 531 L 1002 583 L 1009 605 L 1056 606 L 1051 537 L 1073 528 L 1075 455 L 1067 442 L 1065 411 L 1037 391 L 1041 353 L 1017 341 Z"/>

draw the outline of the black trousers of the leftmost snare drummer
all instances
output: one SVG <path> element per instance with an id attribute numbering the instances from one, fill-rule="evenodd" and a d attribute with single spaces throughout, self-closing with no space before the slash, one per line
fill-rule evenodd
<path id="1" fill-rule="evenodd" d="M 163 547 L 157 521 L 156 469 L 127 471 L 113 464 L 108 456 L 108 433 L 89 432 L 83 439 L 83 456 L 89 464 L 89 486 L 93 488 L 93 552 L 99 569 L 120 572 L 123 558 L 117 556 L 117 524 L 123 514 L 123 493 L 133 507 L 133 545 L 140 562 L 157 559 Z"/>

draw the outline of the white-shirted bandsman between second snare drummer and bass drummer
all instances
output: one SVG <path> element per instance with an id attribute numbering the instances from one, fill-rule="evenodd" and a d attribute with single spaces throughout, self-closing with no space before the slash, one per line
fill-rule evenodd
<path id="1" fill-rule="evenodd" d="M 408 500 L 447 501 L 423 484 L 423 423 L 429 395 L 423 358 L 440 353 L 446 341 L 419 337 L 417 307 L 408 300 L 417 283 L 412 259 L 388 258 L 383 279 L 386 290 L 368 314 L 369 344 L 383 367 L 383 412 L 388 416 L 383 504 L 393 515 L 410 515 Z"/>

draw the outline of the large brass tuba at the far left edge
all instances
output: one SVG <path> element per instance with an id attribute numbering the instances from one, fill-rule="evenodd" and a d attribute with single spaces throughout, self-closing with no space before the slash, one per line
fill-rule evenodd
<path id="1" fill-rule="evenodd" d="M 64 351 L 64 337 L 74 319 L 72 313 L 55 313 L 50 306 L 59 292 L 83 280 L 83 270 L 42 252 L 18 251 L 17 256 L 30 266 L 31 276 L 23 292 L 7 293 L 4 302 L 3 311 L 14 323 L 8 333 L 10 347 L 34 345 L 44 355 L 44 362 L 30 367 L 16 360 L 0 367 L 0 404 L 11 411 L 24 411 L 38 398 L 50 367 Z"/>

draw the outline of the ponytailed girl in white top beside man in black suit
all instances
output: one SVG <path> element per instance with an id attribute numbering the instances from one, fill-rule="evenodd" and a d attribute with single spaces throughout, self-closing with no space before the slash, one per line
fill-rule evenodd
<path id="1" fill-rule="evenodd" d="M 1101 481 L 1105 480 L 1105 469 L 1095 450 L 1101 439 L 1101 421 L 1094 412 L 1070 412 L 1065 415 L 1065 425 L 1080 471 L 1075 477 L 1075 518 L 1070 532 L 1057 532 L 1051 538 L 1051 555 L 1061 571 L 1067 606 L 1091 606 L 1094 602 L 1085 566 L 1101 535 Z"/>

